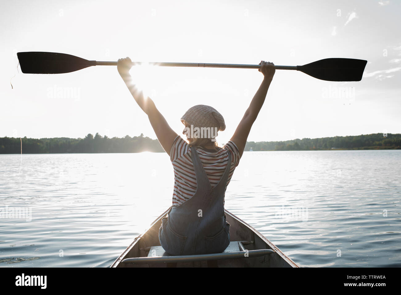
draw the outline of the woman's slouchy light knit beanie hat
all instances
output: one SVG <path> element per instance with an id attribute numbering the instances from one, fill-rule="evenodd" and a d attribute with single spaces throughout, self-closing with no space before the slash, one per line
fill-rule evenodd
<path id="1" fill-rule="evenodd" d="M 181 117 L 181 121 L 187 121 L 194 127 L 217 127 L 224 131 L 224 118 L 215 108 L 209 105 L 195 105 L 188 109 Z"/>

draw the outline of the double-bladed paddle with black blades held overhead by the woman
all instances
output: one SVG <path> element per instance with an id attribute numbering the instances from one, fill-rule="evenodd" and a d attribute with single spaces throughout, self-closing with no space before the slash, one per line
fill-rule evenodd
<path id="1" fill-rule="evenodd" d="M 61 74 L 78 71 L 96 65 L 113 65 L 116 61 L 88 61 L 74 55 L 54 52 L 18 52 L 22 73 Z M 326 81 L 360 81 L 367 61 L 362 59 L 321 59 L 303 66 L 275 66 L 277 70 L 301 71 L 314 78 Z M 139 62 L 133 62 L 139 65 Z M 260 65 L 237 65 L 222 63 L 150 63 L 161 67 L 212 67 L 259 69 Z"/>

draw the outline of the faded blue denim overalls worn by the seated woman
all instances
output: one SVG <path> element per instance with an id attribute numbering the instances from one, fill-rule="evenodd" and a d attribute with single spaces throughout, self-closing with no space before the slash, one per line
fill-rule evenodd
<path id="1" fill-rule="evenodd" d="M 221 253 L 230 243 L 230 224 L 224 214 L 223 198 L 231 167 L 231 153 L 228 152 L 228 165 L 213 189 L 192 145 L 191 154 L 196 192 L 183 204 L 170 207 L 167 216 L 162 218 L 160 244 L 171 255 Z"/>

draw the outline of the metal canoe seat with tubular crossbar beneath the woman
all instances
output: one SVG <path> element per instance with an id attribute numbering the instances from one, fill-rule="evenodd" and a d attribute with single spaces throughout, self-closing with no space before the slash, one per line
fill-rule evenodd
<path id="1" fill-rule="evenodd" d="M 263 256 L 275 251 L 271 249 L 246 250 L 243 243 L 245 241 L 230 242 L 223 253 L 201 254 L 201 255 L 177 255 L 172 256 L 164 251 L 162 246 L 150 247 L 148 257 L 127 258 L 122 263 L 144 264 L 144 263 L 172 263 L 185 261 L 210 261 L 218 259 L 233 259 L 243 257 Z M 249 243 L 249 242 L 248 242 Z"/>

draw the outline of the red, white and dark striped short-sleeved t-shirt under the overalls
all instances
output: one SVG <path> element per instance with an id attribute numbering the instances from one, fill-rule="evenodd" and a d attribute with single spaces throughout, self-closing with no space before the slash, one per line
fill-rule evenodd
<path id="1" fill-rule="evenodd" d="M 230 140 L 219 151 L 209 150 L 200 146 L 195 148 L 212 188 L 219 183 L 223 176 L 229 160 L 227 153 L 231 152 L 231 168 L 225 187 L 226 190 L 235 167 L 239 164 L 240 156 L 237 145 Z M 196 192 L 196 176 L 191 153 L 190 145 L 178 135 L 174 139 L 170 151 L 170 160 L 174 168 L 173 207 L 189 200 Z"/>

